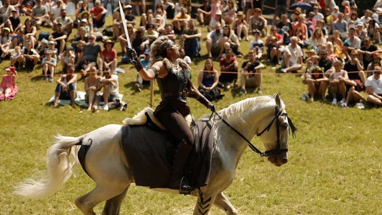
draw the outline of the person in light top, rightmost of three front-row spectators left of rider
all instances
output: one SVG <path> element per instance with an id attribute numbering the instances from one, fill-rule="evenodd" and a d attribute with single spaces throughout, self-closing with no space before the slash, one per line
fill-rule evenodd
<path id="1" fill-rule="evenodd" d="M 118 75 L 114 75 L 110 67 L 106 67 L 103 73 L 105 77 L 102 78 L 99 87 L 103 87 L 102 101 L 105 105 L 102 107 L 104 110 L 109 110 L 109 102 L 116 102 L 119 96 L 119 82 Z"/>

